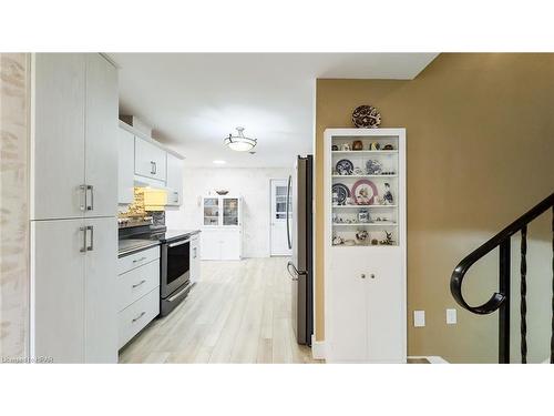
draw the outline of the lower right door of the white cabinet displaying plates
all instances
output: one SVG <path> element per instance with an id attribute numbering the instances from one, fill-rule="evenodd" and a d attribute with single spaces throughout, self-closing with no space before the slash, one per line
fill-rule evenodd
<path id="1" fill-rule="evenodd" d="M 400 247 L 382 247 L 368 266 L 368 359 L 406 363 L 406 288 Z"/>

